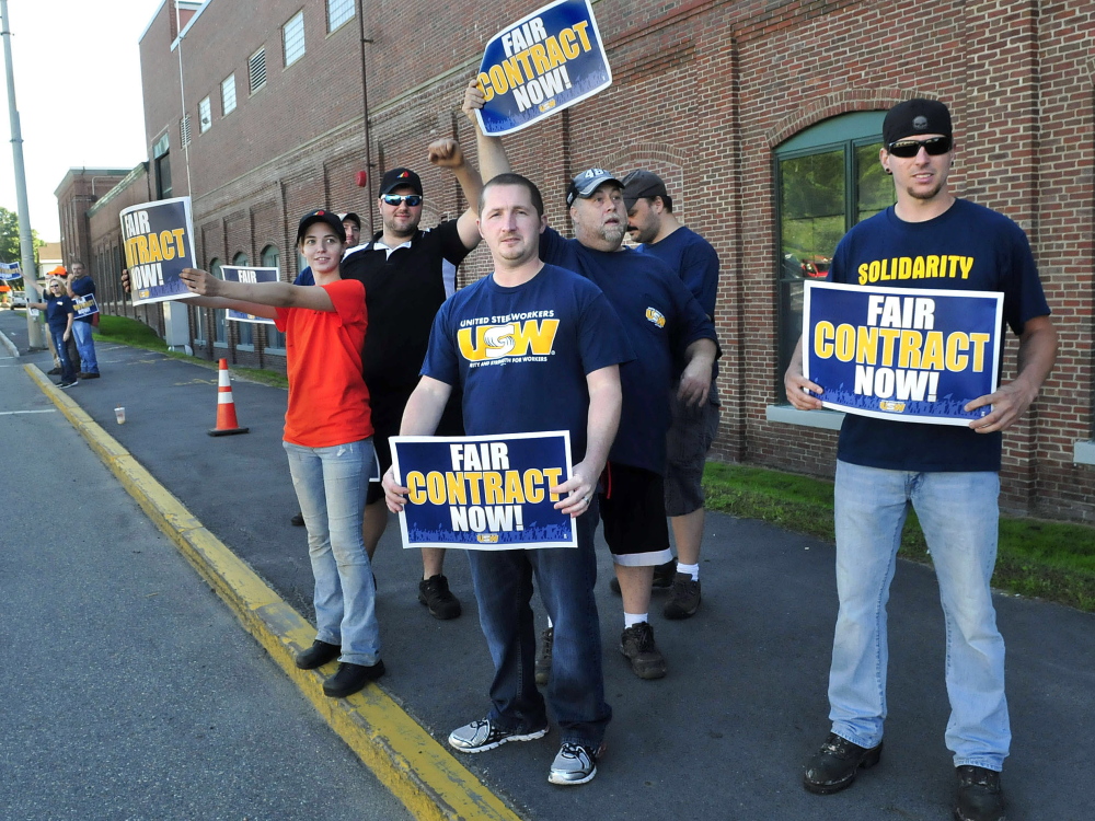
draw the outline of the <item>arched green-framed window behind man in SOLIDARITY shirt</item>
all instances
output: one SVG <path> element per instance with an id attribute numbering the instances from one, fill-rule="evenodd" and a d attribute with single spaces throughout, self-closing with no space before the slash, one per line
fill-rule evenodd
<path id="1" fill-rule="evenodd" d="M 805 282 L 826 279 L 848 230 L 895 203 L 894 183 L 878 161 L 885 116 L 833 117 L 775 150 L 777 396 L 803 333 Z"/>

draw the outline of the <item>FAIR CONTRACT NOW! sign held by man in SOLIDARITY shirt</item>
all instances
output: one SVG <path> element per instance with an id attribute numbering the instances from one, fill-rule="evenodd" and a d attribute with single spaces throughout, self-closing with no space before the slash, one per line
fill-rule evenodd
<path id="1" fill-rule="evenodd" d="M 826 407 L 898 421 L 968 425 L 992 408 L 1004 298 L 987 291 L 807 282 L 803 372 Z"/>

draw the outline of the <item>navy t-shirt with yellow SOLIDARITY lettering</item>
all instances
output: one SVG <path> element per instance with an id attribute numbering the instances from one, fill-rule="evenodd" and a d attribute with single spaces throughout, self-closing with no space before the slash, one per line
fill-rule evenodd
<path id="1" fill-rule="evenodd" d="M 883 279 L 896 259 L 921 257 L 909 266 L 935 276 Z M 930 257 L 935 257 L 932 261 Z M 946 264 L 941 258 L 950 257 Z M 871 263 L 875 281 L 871 280 Z M 1026 234 L 1007 217 L 958 199 L 926 222 L 903 222 L 894 208 L 864 220 L 840 241 L 832 257 L 833 282 L 891 288 L 1002 291 L 1004 322 L 1016 334 L 1027 320 L 1049 315 Z M 1001 334 L 1004 328 L 1001 328 Z M 1002 437 L 952 425 L 890 421 L 848 414 L 837 458 L 895 471 L 999 471 Z"/>

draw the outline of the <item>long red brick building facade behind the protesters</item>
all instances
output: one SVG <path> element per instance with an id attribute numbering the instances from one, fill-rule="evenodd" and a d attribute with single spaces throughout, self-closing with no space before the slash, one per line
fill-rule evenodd
<path id="1" fill-rule="evenodd" d="M 453 135 L 474 153 L 459 113 L 462 88 L 485 41 L 535 3 L 180 5 L 181 27 L 174 0 L 165 0 L 141 39 L 150 160 L 129 185 L 155 197 L 166 175 L 172 196 L 193 197 L 206 265 L 244 257 L 257 264 L 276 251 L 291 278 L 297 217 L 316 206 L 351 209 L 368 233 L 370 221 L 379 224 L 374 181 L 387 167 L 423 172 L 424 224 L 464 207 L 451 177 L 428 167 L 426 146 Z M 1095 59 L 1087 47 L 1095 1 L 601 0 L 593 10 L 613 85 L 508 138 L 507 148 L 514 167 L 541 185 L 549 217 L 564 233 L 563 192 L 573 173 L 595 164 L 620 173 L 645 166 L 665 177 L 680 219 L 716 247 L 725 351 L 716 458 L 831 474 L 834 420 L 789 410 L 781 386 L 781 335 L 794 328 L 779 282 L 780 158 L 803 153 L 810 139 L 825 142 L 835 128 L 851 135 L 840 138 L 850 151 L 858 150 L 880 131 L 888 107 L 933 96 L 955 119 L 954 190 L 1027 231 L 1061 336 L 1057 371 L 1005 437 L 1002 501 L 1095 520 Z M 288 66 L 287 46 L 295 57 Z M 264 82 L 256 83 L 260 69 Z M 367 167 L 362 189 L 355 173 Z M 112 227 L 100 212 L 95 220 L 92 244 L 112 246 L 117 220 Z M 463 281 L 481 276 L 485 259 L 475 252 Z M 262 334 L 241 346 L 237 329 L 224 328 L 218 342 L 217 322 L 212 312 L 191 309 L 196 352 L 281 367 Z M 1005 379 L 1014 350 L 1013 339 Z"/>

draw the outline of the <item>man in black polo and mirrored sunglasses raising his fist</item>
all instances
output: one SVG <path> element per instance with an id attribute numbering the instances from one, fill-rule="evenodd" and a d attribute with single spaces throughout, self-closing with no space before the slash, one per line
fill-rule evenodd
<path id="1" fill-rule="evenodd" d="M 383 231 L 370 242 L 348 248 L 342 264 L 344 279 L 365 284 L 369 329 L 362 360 L 381 475 L 392 463 L 388 438 L 399 435 L 403 408 L 418 384 L 434 315 L 456 292 L 457 266 L 480 241 L 475 209 L 483 182 L 479 171 L 464 160 L 460 143 L 452 139 L 431 143 L 428 155 L 431 163 L 456 175 L 468 210 L 436 228 L 418 228 L 422 180 L 410 169 L 392 169 L 380 182 L 378 206 Z M 301 271 L 297 284 L 311 285 L 311 273 Z M 458 396 L 449 402 L 437 435 L 462 433 Z M 379 483 L 371 483 L 365 507 L 365 546 L 370 559 L 387 527 L 384 490 Z M 436 618 L 456 618 L 460 602 L 441 575 L 443 562 L 443 550 L 423 548 L 418 601 Z"/>

